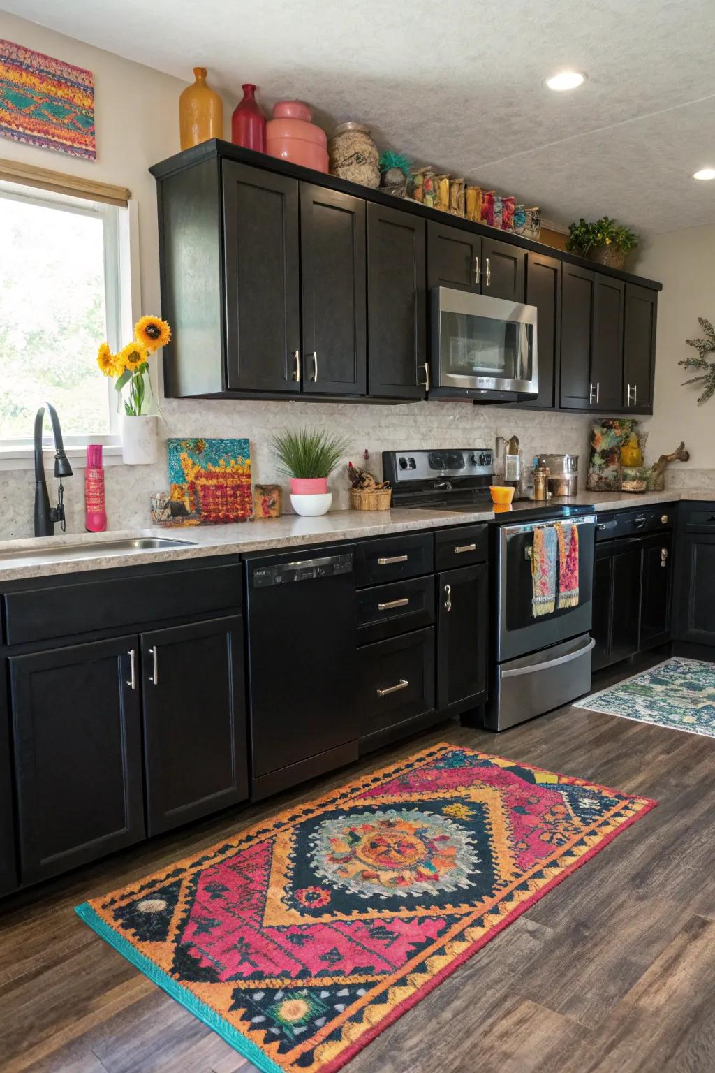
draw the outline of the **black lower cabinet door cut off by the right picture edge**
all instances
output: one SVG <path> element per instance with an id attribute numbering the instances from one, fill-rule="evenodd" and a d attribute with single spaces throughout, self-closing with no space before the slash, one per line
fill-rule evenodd
<path id="1" fill-rule="evenodd" d="M 677 640 L 715 645 L 715 536 L 677 534 Z"/>

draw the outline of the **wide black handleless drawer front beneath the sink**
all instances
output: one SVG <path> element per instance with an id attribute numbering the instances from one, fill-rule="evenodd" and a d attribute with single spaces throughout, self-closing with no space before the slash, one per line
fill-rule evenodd
<path id="1" fill-rule="evenodd" d="M 9 645 L 241 606 L 240 565 L 179 570 L 4 594 Z"/>

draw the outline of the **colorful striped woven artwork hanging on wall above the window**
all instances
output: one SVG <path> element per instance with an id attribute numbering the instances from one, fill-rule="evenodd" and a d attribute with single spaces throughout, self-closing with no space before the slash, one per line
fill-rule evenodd
<path id="1" fill-rule="evenodd" d="M 0 40 L 0 134 L 94 160 L 92 72 Z"/>

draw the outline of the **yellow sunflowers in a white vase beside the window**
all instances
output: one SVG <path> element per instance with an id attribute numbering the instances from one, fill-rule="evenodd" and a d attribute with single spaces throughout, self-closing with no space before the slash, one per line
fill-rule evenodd
<path id="1" fill-rule="evenodd" d="M 121 438 L 122 458 L 130 465 L 157 461 L 157 415 L 147 413 L 151 395 L 149 358 L 170 338 L 166 321 L 143 317 L 134 325 L 134 338 L 118 354 L 113 354 L 108 343 L 103 342 L 96 355 L 96 364 L 105 377 L 116 380 L 119 398 L 129 385 L 123 400 Z"/>

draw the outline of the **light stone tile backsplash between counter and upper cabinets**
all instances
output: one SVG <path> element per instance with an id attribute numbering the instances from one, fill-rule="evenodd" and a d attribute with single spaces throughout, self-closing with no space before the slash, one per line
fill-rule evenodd
<path id="1" fill-rule="evenodd" d="M 405 406 L 374 403 L 258 402 L 202 399 L 164 399 L 160 435 L 178 437 L 248 437 L 251 441 L 254 482 L 277 483 L 287 488 L 287 479 L 275 471 L 270 439 L 284 428 L 310 426 L 345 436 L 348 453 L 330 479 L 333 510 L 348 505 L 345 466 L 348 458 L 381 472 L 381 452 L 408 447 L 493 447 L 497 435 L 519 437 L 524 458 L 539 452 L 578 454 L 581 487 L 585 487 L 591 417 L 587 414 L 548 413 L 503 407 L 477 407 L 468 402 L 431 401 Z M 60 418 L 61 418 L 60 414 Z M 362 461 L 364 450 L 370 460 Z M 106 469 L 109 529 L 146 527 L 149 496 L 166 488 L 166 449 L 154 466 L 110 466 Z M 50 502 L 57 501 L 51 465 L 47 464 Z M 84 471 L 64 481 L 68 532 L 81 532 Z M 0 473 L 0 540 L 32 535 L 33 473 L 10 470 Z M 287 509 L 289 500 L 285 497 Z"/>

